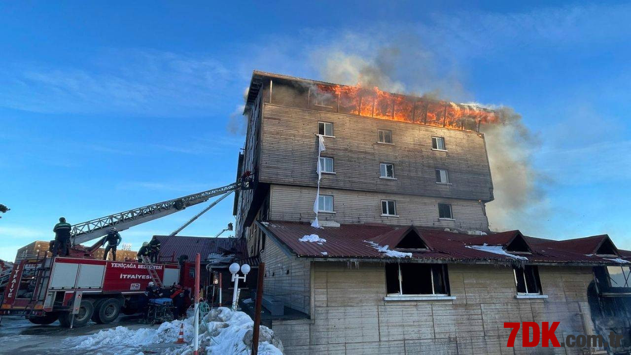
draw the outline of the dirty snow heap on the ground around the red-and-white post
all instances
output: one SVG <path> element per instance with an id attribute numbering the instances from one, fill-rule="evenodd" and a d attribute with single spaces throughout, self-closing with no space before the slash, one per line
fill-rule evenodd
<path id="1" fill-rule="evenodd" d="M 110 349 L 116 353 L 117 348 L 126 347 L 126 351 L 146 347 L 156 354 L 189 355 L 192 354 L 193 319 L 165 322 L 156 328 L 139 328 L 131 330 L 116 327 L 101 330 L 97 334 L 71 337 L 66 343 L 72 349 Z M 175 346 L 173 343 L 184 324 L 184 340 L 186 345 Z M 211 310 L 199 325 L 199 354 L 249 355 L 252 346 L 254 322 L 243 312 L 233 312 L 221 307 Z M 160 344 L 160 346 L 156 346 Z M 172 345 L 172 346 L 170 346 Z M 153 347 L 152 347 L 153 346 Z M 142 353 L 142 351 L 141 351 Z M 261 326 L 259 331 L 259 354 L 282 355 L 283 344 L 268 327 Z"/>

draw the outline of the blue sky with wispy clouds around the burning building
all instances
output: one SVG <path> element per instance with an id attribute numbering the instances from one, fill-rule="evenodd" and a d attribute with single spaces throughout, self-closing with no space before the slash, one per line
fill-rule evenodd
<path id="1" fill-rule="evenodd" d="M 347 67 L 384 64 L 384 52 L 398 54 L 387 74 L 407 92 L 522 115 L 536 194 L 507 213 L 511 228 L 606 232 L 631 248 L 628 18 L 624 3 L 3 3 L 0 258 L 52 239 L 60 215 L 82 222 L 232 182 L 253 69 L 352 80 Z M 138 248 L 201 208 L 122 236 Z M 231 221 L 227 199 L 182 234 Z"/>

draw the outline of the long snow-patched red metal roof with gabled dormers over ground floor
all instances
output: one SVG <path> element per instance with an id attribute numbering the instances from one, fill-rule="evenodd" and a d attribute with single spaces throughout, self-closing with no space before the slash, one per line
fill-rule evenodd
<path id="1" fill-rule="evenodd" d="M 518 262 L 510 256 L 490 253 L 488 251 L 470 248 L 471 245 L 505 245 L 515 236 L 521 234 L 519 231 L 508 231 L 488 234 L 487 236 L 469 235 L 441 231 L 437 229 L 422 229 L 413 226 L 369 226 L 365 224 L 341 224 L 339 227 L 314 228 L 307 223 L 301 222 L 280 222 L 269 221 L 260 222 L 266 234 L 271 234 L 277 243 L 299 257 L 312 258 L 366 258 L 377 260 L 392 260 L 391 256 L 386 256 L 378 251 L 369 242 L 377 243 L 379 246 L 389 245 L 394 249 L 394 245 L 406 236 L 411 228 L 430 246 L 430 250 L 400 250 L 410 252 L 412 259 L 454 262 Z M 302 242 L 298 239 L 305 235 L 317 234 L 320 238 L 326 239 L 321 244 Z M 584 239 L 584 238 L 581 238 Z M 528 262 L 535 263 L 615 263 L 606 258 L 598 256 L 588 256 L 587 253 L 574 248 L 565 248 L 569 241 L 553 241 L 551 239 L 531 238 L 524 236 L 533 251 L 531 254 L 519 254 L 526 256 Z M 574 239 L 570 239 L 572 241 Z M 582 242 L 579 242 L 579 244 Z M 578 248 L 580 249 L 580 248 Z M 631 252 L 628 252 L 631 253 Z M 621 253 L 623 257 L 629 257 Z M 631 260 L 631 257 L 630 257 Z"/>

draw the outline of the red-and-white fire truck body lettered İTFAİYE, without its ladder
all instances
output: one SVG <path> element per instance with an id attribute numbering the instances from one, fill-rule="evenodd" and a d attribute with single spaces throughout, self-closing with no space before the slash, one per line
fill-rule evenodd
<path id="1" fill-rule="evenodd" d="M 120 312 L 141 311 L 144 291 L 152 280 L 148 268 L 155 270 L 164 286 L 179 282 L 177 263 L 145 265 L 59 256 L 21 260 L 9 276 L 0 315 L 24 315 L 35 324 L 59 319 L 64 327 L 71 323 L 80 327 L 90 319 L 109 323 Z"/>

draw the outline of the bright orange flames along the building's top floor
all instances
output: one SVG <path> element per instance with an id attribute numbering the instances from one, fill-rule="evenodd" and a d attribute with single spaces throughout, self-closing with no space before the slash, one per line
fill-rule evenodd
<path id="1" fill-rule="evenodd" d="M 473 105 L 455 104 L 389 93 L 379 88 L 343 85 L 317 85 L 321 95 L 338 105 L 339 112 L 392 119 L 430 126 L 476 131 L 479 124 L 495 123 L 498 114 Z"/>

